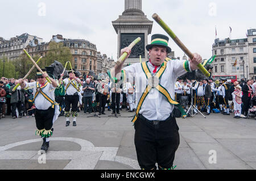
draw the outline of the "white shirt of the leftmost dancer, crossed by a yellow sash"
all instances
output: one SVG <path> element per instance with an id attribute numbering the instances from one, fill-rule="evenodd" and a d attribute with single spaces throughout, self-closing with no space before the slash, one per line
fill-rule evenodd
<path id="1" fill-rule="evenodd" d="M 36 93 L 36 82 L 26 82 L 26 87 L 31 87 L 31 89 L 33 89 L 33 95 L 35 96 Z M 39 83 L 39 87 L 41 87 L 40 83 Z M 55 87 L 52 86 L 51 83 L 48 83 L 46 85 L 46 87 L 44 87 L 42 89 L 42 91 L 44 92 L 44 94 L 46 94 L 49 98 L 51 98 L 53 101 L 55 101 Z M 44 98 L 44 96 L 39 92 L 39 94 L 36 96 L 35 100 L 35 107 L 38 110 L 47 110 L 50 106 L 52 106 L 52 103 L 49 102 L 49 100 L 47 100 L 46 98 Z"/>

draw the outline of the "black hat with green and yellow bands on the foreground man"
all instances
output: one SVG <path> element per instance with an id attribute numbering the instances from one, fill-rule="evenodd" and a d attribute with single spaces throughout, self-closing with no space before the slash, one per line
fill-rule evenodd
<path id="1" fill-rule="evenodd" d="M 162 34 L 154 34 L 151 36 L 151 44 L 147 45 L 146 49 L 149 50 L 155 45 L 160 45 L 166 47 L 167 53 L 170 53 L 172 49 L 168 47 L 168 41 L 168 36 Z"/>

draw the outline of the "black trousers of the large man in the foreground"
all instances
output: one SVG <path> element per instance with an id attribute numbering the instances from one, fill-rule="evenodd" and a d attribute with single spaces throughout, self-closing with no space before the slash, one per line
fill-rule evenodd
<path id="1" fill-rule="evenodd" d="M 155 163 L 169 169 L 174 163 L 175 151 L 180 144 L 179 127 L 175 117 L 159 121 L 156 126 L 139 115 L 134 124 L 134 143 L 141 169 L 153 169 Z"/>

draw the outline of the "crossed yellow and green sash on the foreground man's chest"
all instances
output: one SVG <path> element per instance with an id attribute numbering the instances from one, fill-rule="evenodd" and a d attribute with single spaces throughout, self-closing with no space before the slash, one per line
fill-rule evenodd
<path id="1" fill-rule="evenodd" d="M 168 60 L 165 60 L 163 62 L 163 64 L 161 65 L 160 69 L 158 69 L 158 71 L 156 72 L 156 75 L 155 77 L 157 77 L 158 79 L 160 79 L 164 73 L 164 70 L 166 70 L 166 66 L 167 66 L 167 62 Z M 146 74 L 146 77 L 147 79 L 149 79 L 150 77 L 152 77 L 151 73 L 150 73 L 150 70 L 148 69 L 148 66 L 147 66 L 147 62 L 142 62 L 141 63 L 141 66 L 142 66 L 142 69 L 144 71 L 144 73 Z M 144 102 L 144 100 L 146 99 L 146 96 L 148 95 L 148 93 L 150 92 L 150 90 L 152 88 L 155 88 L 156 90 L 158 90 L 162 95 L 164 95 L 166 97 L 166 99 L 168 100 L 168 102 L 170 104 L 173 104 L 175 106 L 177 106 L 182 114 L 183 117 L 185 117 L 187 115 L 187 113 L 185 113 L 185 111 L 183 110 L 183 108 L 180 106 L 180 104 L 174 100 L 172 100 L 171 98 L 171 95 L 169 94 L 169 92 L 162 86 L 159 85 L 156 86 L 156 87 L 151 87 L 148 83 L 147 83 L 147 86 L 146 86 L 146 89 L 144 90 L 142 96 L 141 96 L 141 99 L 139 99 L 139 102 L 138 102 L 138 106 L 137 106 L 137 110 L 136 110 L 136 113 L 135 113 L 135 116 L 133 117 L 133 120 L 131 120 L 133 123 L 135 123 L 135 121 L 137 120 L 138 118 L 138 115 L 139 115 L 139 110 L 141 110 L 141 107 L 142 107 L 142 104 Z"/>

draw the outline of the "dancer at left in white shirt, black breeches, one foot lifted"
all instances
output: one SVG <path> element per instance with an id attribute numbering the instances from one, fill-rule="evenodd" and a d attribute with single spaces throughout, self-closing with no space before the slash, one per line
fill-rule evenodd
<path id="1" fill-rule="evenodd" d="M 22 88 L 31 87 L 33 89 L 36 120 L 36 135 L 43 138 L 43 145 L 41 150 L 47 151 L 49 148 L 49 137 L 52 136 L 52 125 L 59 116 L 59 105 L 55 100 L 55 88 L 57 82 L 48 76 L 45 70 L 44 73 L 37 72 L 36 76 L 38 82 L 24 82 L 23 79 L 19 79 L 20 86 Z M 48 77 L 52 84 L 50 84 L 46 77 Z"/>

